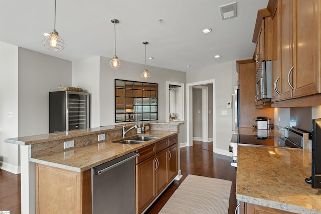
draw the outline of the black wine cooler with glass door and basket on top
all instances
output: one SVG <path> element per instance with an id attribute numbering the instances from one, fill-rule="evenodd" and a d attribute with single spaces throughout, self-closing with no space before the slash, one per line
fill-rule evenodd
<path id="1" fill-rule="evenodd" d="M 49 92 L 49 133 L 89 128 L 89 93 Z"/>

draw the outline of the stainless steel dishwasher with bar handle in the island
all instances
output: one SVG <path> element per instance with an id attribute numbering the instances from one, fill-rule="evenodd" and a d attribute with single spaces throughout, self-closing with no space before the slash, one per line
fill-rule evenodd
<path id="1" fill-rule="evenodd" d="M 135 213 L 135 157 L 131 152 L 91 169 L 92 213 Z"/>

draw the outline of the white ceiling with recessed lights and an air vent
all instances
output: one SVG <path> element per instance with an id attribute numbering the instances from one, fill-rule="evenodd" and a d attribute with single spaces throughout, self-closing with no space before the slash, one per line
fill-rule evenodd
<path id="1" fill-rule="evenodd" d="M 222 20 L 219 7 L 237 2 L 237 17 Z M 42 33 L 54 29 L 54 0 L 0 0 L 0 41 L 74 61 L 114 56 L 184 72 L 250 59 L 257 10 L 268 0 L 57 0 L 56 31 L 64 50 L 46 49 Z M 159 24 L 158 19 L 163 19 Z M 204 28 L 213 31 L 202 33 Z M 214 59 L 215 55 L 221 58 Z M 186 66 L 191 66 L 187 68 Z"/>

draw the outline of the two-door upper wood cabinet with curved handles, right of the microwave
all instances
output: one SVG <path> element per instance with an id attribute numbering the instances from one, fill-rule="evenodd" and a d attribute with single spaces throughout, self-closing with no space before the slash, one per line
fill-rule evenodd
<path id="1" fill-rule="evenodd" d="M 272 30 L 272 58 L 276 60 L 272 63 L 273 101 L 321 92 L 318 27 L 321 6 L 319 8 L 318 2 L 279 0 L 276 4 L 272 20 L 272 29 L 278 32 L 274 35 Z M 274 38 L 277 35 L 279 41 Z M 274 71 L 276 68 L 278 72 Z"/>

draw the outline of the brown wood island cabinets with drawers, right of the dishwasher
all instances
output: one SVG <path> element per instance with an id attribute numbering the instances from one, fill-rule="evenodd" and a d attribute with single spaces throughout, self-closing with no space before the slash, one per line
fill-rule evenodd
<path id="1" fill-rule="evenodd" d="M 141 213 L 178 173 L 178 135 L 138 150 L 136 213 Z"/>

